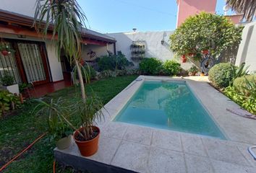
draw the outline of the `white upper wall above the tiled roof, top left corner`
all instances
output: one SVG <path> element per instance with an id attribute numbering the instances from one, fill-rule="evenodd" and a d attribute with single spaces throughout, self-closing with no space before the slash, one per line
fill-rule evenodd
<path id="1" fill-rule="evenodd" d="M 35 0 L 1 0 L 0 9 L 34 17 L 35 2 Z"/>

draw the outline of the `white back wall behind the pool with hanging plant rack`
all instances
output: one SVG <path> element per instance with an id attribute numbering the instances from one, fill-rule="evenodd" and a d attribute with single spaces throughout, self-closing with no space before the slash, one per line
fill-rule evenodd
<path id="1" fill-rule="evenodd" d="M 174 31 L 159 31 L 159 32 L 121 32 L 108 34 L 116 39 L 116 51 L 121 50 L 129 61 L 131 59 L 130 45 L 132 41 L 144 40 L 145 41 L 145 57 L 158 58 L 161 61 L 171 60 L 174 58 L 174 53 L 170 50 L 169 37 Z M 164 40 L 163 45 L 161 40 Z M 180 61 L 180 60 L 178 60 Z M 135 66 L 140 61 L 132 61 Z M 182 63 L 182 68 L 187 70 L 190 68 L 191 63 Z"/>

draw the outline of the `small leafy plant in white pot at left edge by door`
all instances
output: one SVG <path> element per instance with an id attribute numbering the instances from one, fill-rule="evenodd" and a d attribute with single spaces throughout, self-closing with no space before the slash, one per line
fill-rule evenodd
<path id="1" fill-rule="evenodd" d="M 14 84 L 14 77 L 8 71 L 4 71 L 4 76 L 0 79 L 3 89 L 8 90 L 12 94 L 20 94 L 19 85 Z"/>

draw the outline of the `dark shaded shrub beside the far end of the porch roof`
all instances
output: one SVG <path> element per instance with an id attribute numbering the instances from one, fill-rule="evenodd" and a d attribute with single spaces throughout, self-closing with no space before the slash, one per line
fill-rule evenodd
<path id="1" fill-rule="evenodd" d="M 118 51 L 116 55 L 101 56 L 96 59 L 99 66 L 99 71 L 106 70 L 124 70 L 127 66 L 134 66 L 134 64 L 127 60 L 121 51 Z"/>

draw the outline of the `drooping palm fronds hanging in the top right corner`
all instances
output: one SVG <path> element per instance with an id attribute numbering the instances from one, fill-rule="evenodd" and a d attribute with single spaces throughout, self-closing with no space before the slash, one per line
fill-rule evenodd
<path id="1" fill-rule="evenodd" d="M 256 15 L 256 0 L 226 0 L 226 5 L 233 11 L 242 13 L 247 22 L 251 22 Z"/>

